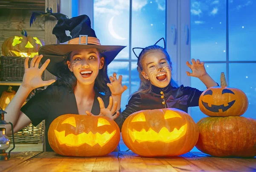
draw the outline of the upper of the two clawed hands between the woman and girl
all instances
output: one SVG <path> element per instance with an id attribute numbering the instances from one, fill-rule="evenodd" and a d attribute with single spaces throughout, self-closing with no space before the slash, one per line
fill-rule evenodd
<path id="1" fill-rule="evenodd" d="M 111 83 L 107 83 L 112 96 L 121 96 L 122 93 L 127 90 L 127 86 L 122 86 L 122 75 L 119 75 L 119 78 L 116 78 L 116 73 L 113 73 L 113 76 L 109 77 Z"/>

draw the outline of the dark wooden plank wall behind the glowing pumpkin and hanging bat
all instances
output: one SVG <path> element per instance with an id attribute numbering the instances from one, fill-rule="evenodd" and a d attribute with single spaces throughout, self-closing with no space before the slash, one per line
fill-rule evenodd
<path id="1" fill-rule="evenodd" d="M 38 17 L 30 27 L 29 21 L 32 11 L 45 11 L 44 0 L 5 0 L 0 3 L 0 54 L 4 40 L 13 35 L 21 35 L 25 29 L 30 36 L 44 40 L 44 17 Z M 7 3 L 7 1 L 9 3 Z M 20 3 L 20 1 L 22 3 Z M 9 4 L 2 6 L 3 4 Z"/>

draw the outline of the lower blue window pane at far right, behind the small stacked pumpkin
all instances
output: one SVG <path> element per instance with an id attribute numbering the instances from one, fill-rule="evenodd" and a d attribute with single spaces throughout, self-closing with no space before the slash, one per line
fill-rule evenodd
<path id="1" fill-rule="evenodd" d="M 232 63 L 229 65 L 230 78 L 229 87 L 234 87 L 242 90 L 249 101 L 247 111 L 244 113 L 244 117 L 256 118 L 256 75 L 255 75 L 256 63 Z M 243 69 L 243 70 L 239 70 Z"/>

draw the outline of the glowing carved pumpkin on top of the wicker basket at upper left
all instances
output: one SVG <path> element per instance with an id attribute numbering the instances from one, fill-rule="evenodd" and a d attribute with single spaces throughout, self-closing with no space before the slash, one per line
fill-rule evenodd
<path id="1" fill-rule="evenodd" d="M 38 55 L 38 50 L 44 45 L 44 41 L 38 37 L 27 36 L 25 30 L 21 31 L 21 36 L 7 38 L 2 45 L 3 56 L 34 57 Z"/>

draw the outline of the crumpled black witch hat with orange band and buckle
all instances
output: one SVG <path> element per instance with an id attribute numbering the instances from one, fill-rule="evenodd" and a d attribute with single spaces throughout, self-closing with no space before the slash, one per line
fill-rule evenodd
<path id="1" fill-rule="evenodd" d="M 70 31 L 70 36 L 66 35 Z M 117 54 L 126 46 L 101 45 L 96 37 L 95 31 L 91 28 L 90 18 L 87 15 L 73 17 L 71 19 L 61 18 L 52 30 L 59 42 L 67 44 L 50 44 L 39 48 L 38 54 L 43 54 L 41 62 L 50 59 L 47 70 L 56 76 L 59 65 L 63 64 L 65 55 L 71 51 L 96 48 L 107 58 L 107 63 L 113 61 Z M 108 65 L 107 64 L 107 65 Z"/>

